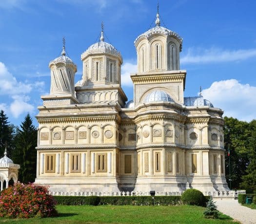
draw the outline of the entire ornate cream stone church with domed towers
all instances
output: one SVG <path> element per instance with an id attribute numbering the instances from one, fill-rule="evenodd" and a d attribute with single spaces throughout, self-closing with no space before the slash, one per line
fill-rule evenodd
<path id="1" fill-rule="evenodd" d="M 104 41 L 81 55 L 82 78 L 66 56 L 50 62 L 50 95 L 37 120 L 36 183 L 51 191 L 228 190 L 223 111 L 184 97 L 182 38 L 160 26 L 135 40 L 134 100 L 121 88 L 122 56 Z"/>

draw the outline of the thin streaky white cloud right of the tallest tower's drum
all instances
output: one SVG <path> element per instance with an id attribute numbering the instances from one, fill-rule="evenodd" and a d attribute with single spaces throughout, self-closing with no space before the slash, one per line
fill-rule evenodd
<path id="1" fill-rule="evenodd" d="M 211 63 L 245 60 L 256 56 L 256 49 L 223 50 L 220 48 L 189 48 L 185 56 L 181 57 L 182 64 Z"/>

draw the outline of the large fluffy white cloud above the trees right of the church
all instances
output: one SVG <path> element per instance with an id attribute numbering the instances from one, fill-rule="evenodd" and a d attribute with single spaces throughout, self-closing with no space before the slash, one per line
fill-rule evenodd
<path id="1" fill-rule="evenodd" d="M 221 80 L 203 90 L 202 95 L 224 110 L 224 116 L 244 121 L 256 119 L 255 86 L 241 84 L 236 79 Z"/>

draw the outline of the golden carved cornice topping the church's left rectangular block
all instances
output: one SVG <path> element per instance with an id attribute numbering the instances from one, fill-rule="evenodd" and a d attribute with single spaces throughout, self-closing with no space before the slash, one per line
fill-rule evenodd
<path id="1" fill-rule="evenodd" d="M 79 116 L 79 117 L 39 117 L 37 116 L 39 124 L 48 123 L 76 123 L 76 122 L 120 122 L 120 117 L 116 115 L 105 116 Z"/>

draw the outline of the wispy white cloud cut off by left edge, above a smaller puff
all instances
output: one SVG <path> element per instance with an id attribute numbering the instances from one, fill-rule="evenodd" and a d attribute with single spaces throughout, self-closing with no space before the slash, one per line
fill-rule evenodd
<path id="1" fill-rule="evenodd" d="M 30 93 L 32 90 L 32 84 L 18 82 L 2 62 L 0 62 L 0 80 L 0 95 Z"/>

